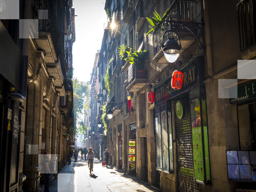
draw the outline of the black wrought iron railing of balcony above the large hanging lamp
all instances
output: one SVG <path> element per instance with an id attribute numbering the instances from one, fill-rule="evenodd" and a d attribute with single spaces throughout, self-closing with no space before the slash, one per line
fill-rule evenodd
<path id="1" fill-rule="evenodd" d="M 170 19 L 174 23 L 186 24 L 191 31 L 197 33 L 198 23 L 196 14 L 196 1 L 195 0 L 175 0 L 170 6 L 164 19 Z M 200 18 L 201 19 L 201 18 Z M 188 32 L 186 28 L 176 25 L 179 32 Z M 162 38 L 165 31 L 170 29 L 169 23 L 161 21 L 153 32 L 153 56 L 161 51 Z M 164 42 L 168 39 L 165 37 Z"/>

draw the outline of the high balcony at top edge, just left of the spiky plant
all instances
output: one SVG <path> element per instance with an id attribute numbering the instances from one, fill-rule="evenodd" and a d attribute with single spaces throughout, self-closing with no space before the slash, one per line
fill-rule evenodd
<path id="1" fill-rule="evenodd" d="M 136 9 L 133 12 L 133 26 L 134 29 L 136 28 L 137 32 L 141 29 L 144 20 L 145 17 L 143 16 L 143 1 L 138 0 Z"/>

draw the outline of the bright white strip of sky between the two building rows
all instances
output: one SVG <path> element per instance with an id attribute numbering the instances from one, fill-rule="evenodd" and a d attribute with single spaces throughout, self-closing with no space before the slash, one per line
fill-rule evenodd
<path id="1" fill-rule="evenodd" d="M 76 41 L 73 44 L 73 78 L 87 82 L 91 79 L 97 50 L 101 49 L 104 29 L 108 22 L 105 0 L 73 0 L 75 8 Z"/>

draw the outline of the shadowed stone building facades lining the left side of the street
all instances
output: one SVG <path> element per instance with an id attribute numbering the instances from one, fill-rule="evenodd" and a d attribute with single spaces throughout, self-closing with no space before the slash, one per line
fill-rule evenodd
<path id="1" fill-rule="evenodd" d="M 42 154 L 51 153 L 54 179 L 74 142 L 75 10 L 69 0 L 9 3 L 0 14 L 0 191 L 43 191 Z"/>

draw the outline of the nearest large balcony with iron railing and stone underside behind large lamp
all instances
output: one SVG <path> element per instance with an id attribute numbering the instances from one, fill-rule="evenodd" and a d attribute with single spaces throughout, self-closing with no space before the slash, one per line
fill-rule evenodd
<path id="1" fill-rule="evenodd" d="M 167 16 L 169 17 L 167 18 Z M 198 29 L 198 26 L 201 23 L 198 23 L 197 18 L 201 19 L 200 14 L 197 13 L 195 0 L 175 0 L 164 18 L 173 21 L 174 31 L 178 31 L 183 52 L 195 43 L 197 39 L 185 27 L 182 27 L 181 24 L 187 26 L 194 34 L 201 38 L 199 35 L 201 29 Z M 201 22 L 201 20 L 199 22 Z M 167 60 L 161 51 L 161 44 L 164 32 L 169 29 L 169 23 L 161 22 L 153 32 L 153 60 L 158 63 L 167 63 Z M 168 39 L 165 36 L 163 42 L 166 42 L 167 40 Z M 182 52 L 180 55 L 181 54 Z"/>

